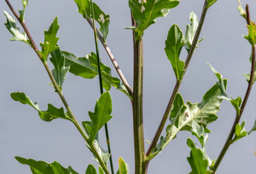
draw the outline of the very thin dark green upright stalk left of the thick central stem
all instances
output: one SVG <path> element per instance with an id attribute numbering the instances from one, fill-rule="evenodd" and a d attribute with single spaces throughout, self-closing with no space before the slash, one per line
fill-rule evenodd
<path id="1" fill-rule="evenodd" d="M 97 54 L 97 64 L 98 64 L 98 71 L 99 71 L 100 94 L 103 94 L 102 75 L 101 75 L 101 69 L 100 69 L 99 47 L 98 47 L 98 39 L 97 39 L 97 29 L 96 29 L 96 25 L 95 25 L 95 16 L 94 16 L 92 0 L 90 1 L 90 3 L 91 3 L 91 8 L 92 8 L 93 33 L 94 33 L 95 48 L 96 48 L 96 54 Z M 109 162 L 110 162 L 110 167 L 111 167 L 111 173 L 114 174 L 113 160 L 112 160 L 109 134 L 108 134 L 108 124 L 106 123 L 104 125 L 104 127 L 105 127 L 105 133 L 106 133 L 106 142 L 107 142 L 107 145 L 108 145 L 108 153 L 109 153 Z"/>

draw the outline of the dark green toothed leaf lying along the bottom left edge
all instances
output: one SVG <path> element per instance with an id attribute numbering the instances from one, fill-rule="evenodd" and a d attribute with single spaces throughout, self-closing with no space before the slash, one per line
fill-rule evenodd
<path id="1" fill-rule="evenodd" d="M 51 164 L 44 161 L 35 161 L 34 159 L 25 159 L 23 157 L 15 157 L 21 164 L 27 164 L 33 174 L 78 174 L 70 166 L 64 168 L 60 163 L 54 161 Z"/>

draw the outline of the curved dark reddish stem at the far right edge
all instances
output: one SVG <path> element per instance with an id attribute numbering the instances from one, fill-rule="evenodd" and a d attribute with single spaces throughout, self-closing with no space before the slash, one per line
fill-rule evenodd
<path id="1" fill-rule="evenodd" d="M 250 25 L 250 13 L 249 13 L 249 6 L 248 4 L 246 4 L 246 22 L 248 25 Z M 216 160 L 214 166 L 212 167 L 212 171 L 213 173 L 216 173 L 216 170 L 218 169 L 218 167 L 220 166 L 220 163 L 223 159 L 223 157 L 225 156 L 228 148 L 230 147 L 230 145 L 232 144 L 231 140 L 234 136 L 234 133 L 236 131 L 236 125 L 239 123 L 239 120 L 241 119 L 242 113 L 244 111 L 244 108 L 246 106 L 246 103 L 248 101 L 248 98 L 250 96 L 250 91 L 252 89 L 252 85 L 253 85 L 253 76 L 254 76 L 254 72 L 255 72 L 255 45 L 252 46 L 252 67 L 251 67 L 251 75 L 250 75 L 250 80 L 248 83 L 248 87 L 246 90 L 246 94 L 244 96 L 243 99 L 243 103 L 241 105 L 240 108 L 240 112 L 236 113 L 236 119 L 234 120 L 233 126 L 230 130 L 230 133 L 228 134 L 228 138 L 225 141 L 225 144 L 220 152 L 220 155 L 218 156 L 218 159 Z"/>

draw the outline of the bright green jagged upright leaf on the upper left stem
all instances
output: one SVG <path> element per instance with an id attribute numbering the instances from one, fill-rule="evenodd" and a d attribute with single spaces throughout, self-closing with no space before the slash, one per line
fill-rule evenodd
<path id="1" fill-rule="evenodd" d="M 54 21 L 49 27 L 49 30 L 44 31 L 44 43 L 40 42 L 42 52 L 39 52 L 44 62 L 47 61 L 48 55 L 52 51 L 57 50 L 59 48 L 57 46 L 59 38 L 56 37 L 59 28 L 60 25 L 58 24 L 58 17 L 56 17 L 54 18 Z"/>

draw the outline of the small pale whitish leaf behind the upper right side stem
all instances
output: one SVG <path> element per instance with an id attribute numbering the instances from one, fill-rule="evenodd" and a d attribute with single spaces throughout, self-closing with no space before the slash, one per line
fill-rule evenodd
<path id="1" fill-rule="evenodd" d="M 191 21 L 191 24 L 187 25 L 187 29 L 186 29 L 186 35 L 185 35 L 185 40 L 186 43 L 184 45 L 184 47 L 186 48 L 186 50 L 189 52 L 191 45 L 193 43 L 193 40 L 195 38 L 196 35 L 196 29 L 198 27 L 198 18 L 196 16 L 196 14 L 194 13 L 194 11 L 192 11 L 189 14 L 189 19 Z"/>

